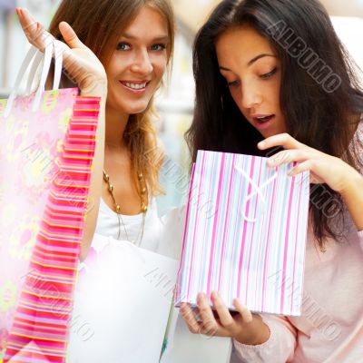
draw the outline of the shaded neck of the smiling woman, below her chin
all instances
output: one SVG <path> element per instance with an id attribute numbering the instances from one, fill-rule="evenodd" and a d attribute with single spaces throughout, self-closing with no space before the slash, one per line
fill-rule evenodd
<path id="1" fill-rule="evenodd" d="M 127 113 L 120 113 L 106 107 L 105 149 L 123 150 L 123 133 L 129 121 L 129 116 Z"/>

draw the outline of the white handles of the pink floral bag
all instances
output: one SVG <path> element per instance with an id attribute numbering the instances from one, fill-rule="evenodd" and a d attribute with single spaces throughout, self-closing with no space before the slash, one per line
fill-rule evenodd
<path id="1" fill-rule="evenodd" d="M 11 113 L 13 104 L 15 102 L 15 97 L 19 93 L 20 84 L 25 76 L 25 72 L 29 67 L 29 64 L 32 64 L 28 82 L 26 84 L 26 94 L 29 94 L 31 92 L 31 86 L 34 81 L 34 76 L 36 73 L 36 70 L 39 67 L 39 64 L 43 60 L 43 67 L 42 67 L 42 74 L 39 86 L 37 88 L 37 91 L 35 93 L 34 102 L 32 104 L 32 111 L 35 112 L 40 105 L 42 94 L 45 90 L 45 83 L 49 74 L 49 70 L 51 67 L 52 62 L 52 55 L 54 52 L 54 83 L 53 83 L 53 89 L 58 90 L 59 84 L 61 82 L 61 76 L 62 76 L 62 64 L 63 64 L 63 50 L 62 46 L 59 44 L 59 41 L 52 40 L 52 42 L 48 42 L 46 44 L 44 49 L 44 54 L 42 54 L 37 48 L 35 48 L 33 45 L 30 47 L 28 53 L 25 55 L 25 59 L 20 67 L 19 73 L 16 76 L 15 79 L 15 85 L 13 88 L 12 93 L 10 93 L 9 98 L 7 99 L 6 107 L 5 107 L 5 113 L 4 116 L 8 117 Z M 33 63 L 32 63 L 33 62 Z"/>

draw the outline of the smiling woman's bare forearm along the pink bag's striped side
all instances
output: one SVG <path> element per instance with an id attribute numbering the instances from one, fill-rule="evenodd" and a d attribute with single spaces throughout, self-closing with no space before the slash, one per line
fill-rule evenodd
<path id="1" fill-rule="evenodd" d="M 98 218 L 100 207 L 102 182 L 103 182 L 103 159 L 104 159 L 104 132 L 105 132 L 105 102 L 107 91 L 104 87 L 99 86 L 91 92 L 82 92 L 82 96 L 101 97 L 100 113 L 96 133 L 96 147 L 93 158 L 93 168 L 91 175 L 91 185 L 88 197 L 88 206 L 86 218 L 84 221 L 84 234 L 81 250 L 81 260 L 87 256 L 88 250 L 91 247 L 93 234 Z"/>

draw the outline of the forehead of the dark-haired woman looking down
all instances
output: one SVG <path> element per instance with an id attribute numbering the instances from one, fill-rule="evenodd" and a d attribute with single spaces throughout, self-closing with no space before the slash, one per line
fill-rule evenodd
<path id="1" fill-rule="evenodd" d="M 252 27 L 243 25 L 223 32 L 216 41 L 218 61 L 239 60 L 245 64 L 259 54 L 275 54 L 270 42 Z"/>

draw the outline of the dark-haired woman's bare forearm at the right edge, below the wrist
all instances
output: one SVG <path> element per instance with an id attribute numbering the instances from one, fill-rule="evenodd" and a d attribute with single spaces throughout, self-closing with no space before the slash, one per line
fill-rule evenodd
<path id="1" fill-rule="evenodd" d="M 363 176 L 352 169 L 341 196 L 358 231 L 363 231 Z"/>

